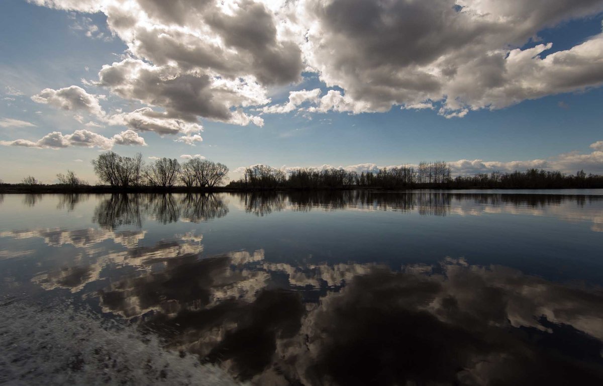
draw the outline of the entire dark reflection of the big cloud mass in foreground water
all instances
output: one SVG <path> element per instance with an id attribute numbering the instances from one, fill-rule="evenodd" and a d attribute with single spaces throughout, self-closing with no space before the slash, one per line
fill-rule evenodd
<path id="1" fill-rule="evenodd" d="M 603 381 L 599 290 L 464 261 L 392 271 L 263 258 L 164 254 L 147 262 L 163 270 L 114 282 L 101 304 L 145 314 L 172 349 L 254 384 Z M 320 302 L 305 302 L 317 286 Z"/>

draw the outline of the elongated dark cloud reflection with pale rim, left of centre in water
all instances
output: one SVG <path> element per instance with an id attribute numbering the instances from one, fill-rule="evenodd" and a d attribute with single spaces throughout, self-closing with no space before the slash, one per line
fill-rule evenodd
<path id="1" fill-rule="evenodd" d="M 253 301 L 256 291 L 264 288 L 268 279 L 262 271 L 241 267 L 254 259 L 263 259 L 263 251 L 253 255 L 237 252 L 233 256 L 200 259 L 198 252 L 182 253 L 183 249 L 175 251 L 171 248 L 166 243 L 148 248 L 161 253 L 147 253 L 140 265 L 161 264 L 162 269 L 113 283 L 101 294 L 103 308 L 133 317 L 151 309 L 175 314 L 183 309 L 214 306 L 226 299 Z"/>

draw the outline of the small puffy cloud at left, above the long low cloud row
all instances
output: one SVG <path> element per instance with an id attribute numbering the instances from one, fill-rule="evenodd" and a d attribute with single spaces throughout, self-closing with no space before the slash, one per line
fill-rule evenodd
<path id="1" fill-rule="evenodd" d="M 103 98 L 103 96 L 100 96 L 100 98 Z M 98 102 L 99 96 L 89 94 L 78 86 L 69 86 L 58 90 L 43 89 L 39 94 L 32 96 L 31 100 L 63 110 L 84 111 L 98 117 L 105 115 Z"/>

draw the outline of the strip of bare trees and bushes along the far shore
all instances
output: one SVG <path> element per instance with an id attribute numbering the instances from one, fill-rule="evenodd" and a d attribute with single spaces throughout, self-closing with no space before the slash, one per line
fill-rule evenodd
<path id="1" fill-rule="evenodd" d="M 42 184 L 33 176 L 21 183 L 3 183 L 6 193 L 166 193 L 166 192 L 245 192 L 245 191 L 313 191 L 370 189 L 403 191 L 408 189 L 598 189 L 603 176 L 560 171 L 528 169 L 526 171 L 479 173 L 452 177 L 446 162 L 421 162 L 414 166 L 382 168 L 358 173 L 344 169 L 297 168 L 289 172 L 268 165 L 245 169 L 241 179 L 225 185 L 229 168 L 206 159 L 154 159 L 145 164 L 142 154 L 122 157 L 112 151 L 92 161 L 98 177 L 96 185 L 75 176 L 73 171 L 57 174 L 56 184 Z"/>

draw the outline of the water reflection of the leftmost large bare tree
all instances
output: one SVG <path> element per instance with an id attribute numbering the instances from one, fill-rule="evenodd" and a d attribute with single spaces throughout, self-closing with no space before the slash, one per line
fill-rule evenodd
<path id="1" fill-rule="evenodd" d="M 141 227 L 140 199 L 138 194 L 112 194 L 95 207 L 92 221 L 105 229 L 132 224 Z"/>

